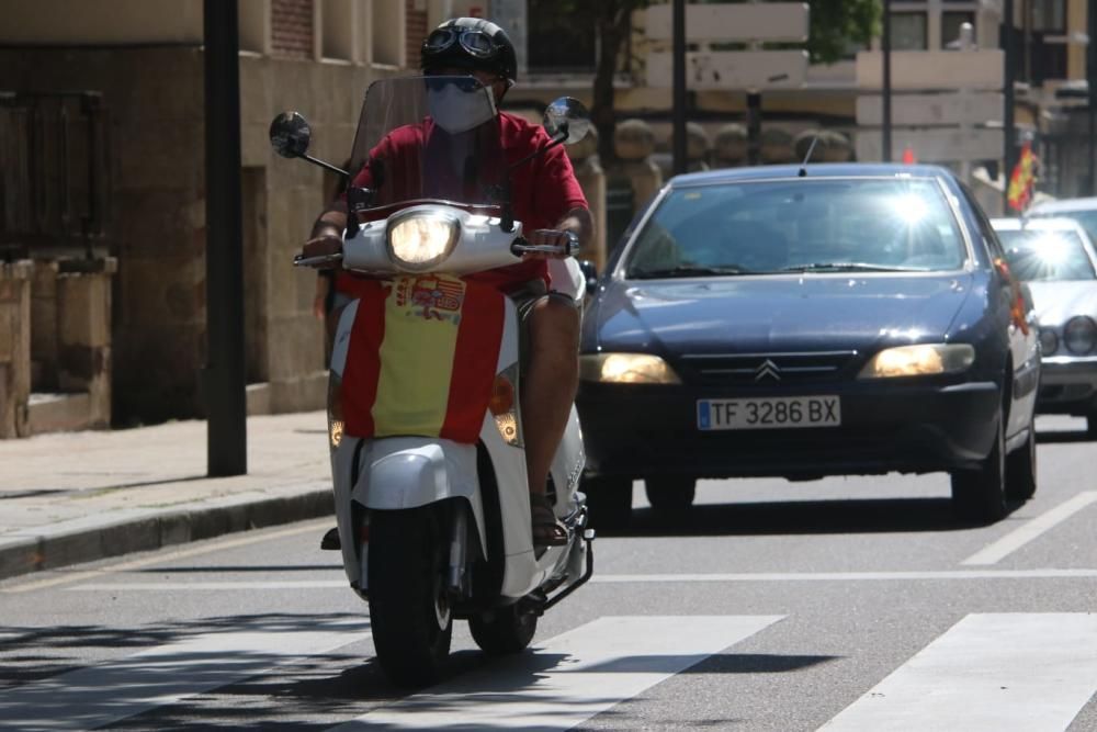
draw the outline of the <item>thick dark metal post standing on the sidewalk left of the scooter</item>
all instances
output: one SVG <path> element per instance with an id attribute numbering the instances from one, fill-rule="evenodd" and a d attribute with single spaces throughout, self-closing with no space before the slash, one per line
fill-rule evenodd
<path id="1" fill-rule="evenodd" d="M 211 476 L 248 472 L 237 0 L 204 0 L 206 331 Z"/>

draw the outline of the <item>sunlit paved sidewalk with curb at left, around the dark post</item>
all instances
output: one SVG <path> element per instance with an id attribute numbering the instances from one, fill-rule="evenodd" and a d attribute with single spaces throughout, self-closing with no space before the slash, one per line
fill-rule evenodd
<path id="1" fill-rule="evenodd" d="M 248 474 L 217 478 L 205 421 L 0 440 L 0 579 L 333 516 L 326 436 L 323 412 L 249 417 Z"/>

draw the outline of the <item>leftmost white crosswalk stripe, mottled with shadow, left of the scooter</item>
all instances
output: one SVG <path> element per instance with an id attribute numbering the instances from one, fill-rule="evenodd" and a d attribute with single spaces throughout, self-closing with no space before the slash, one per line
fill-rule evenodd
<path id="1" fill-rule="evenodd" d="M 202 633 L 3 692 L 0 728 L 89 730 L 369 638 L 361 620 Z"/>

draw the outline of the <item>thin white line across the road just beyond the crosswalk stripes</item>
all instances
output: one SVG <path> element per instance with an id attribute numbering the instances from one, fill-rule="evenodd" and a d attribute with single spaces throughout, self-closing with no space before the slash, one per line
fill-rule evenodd
<path id="1" fill-rule="evenodd" d="M 213 570 L 211 570 L 213 571 Z M 740 572 L 713 574 L 598 574 L 592 584 L 734 583 L 734 582 L 903 582 L 920 579 L 1093 579 L 1097 570 L 925 570 L 911 572 Z M 252 589 L 346 589 L 346 579 L 284 579 L 234 582 L 89 583 L 67 592 L 178 592 Z"/>

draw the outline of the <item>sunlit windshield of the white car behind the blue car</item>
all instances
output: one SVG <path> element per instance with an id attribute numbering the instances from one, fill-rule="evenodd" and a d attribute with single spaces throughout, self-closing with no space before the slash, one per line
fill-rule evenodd
<path id="1" fill-rule="evenodd" d="M 1009 268 L 1026 281 L 1094 280 L 1093 262 L 1076 232 L 998 232 Z"/>

